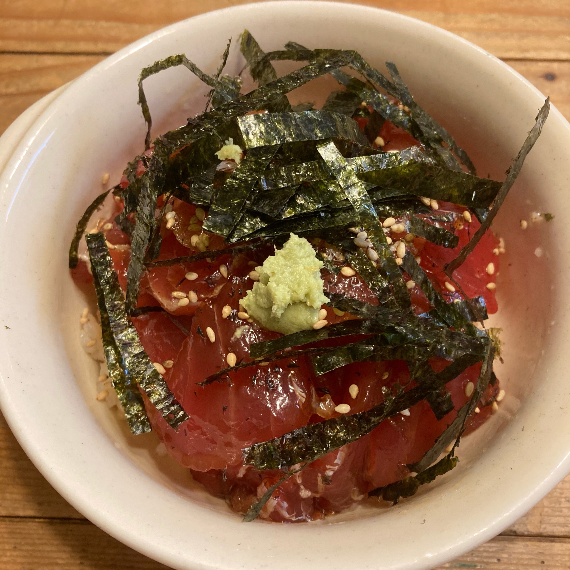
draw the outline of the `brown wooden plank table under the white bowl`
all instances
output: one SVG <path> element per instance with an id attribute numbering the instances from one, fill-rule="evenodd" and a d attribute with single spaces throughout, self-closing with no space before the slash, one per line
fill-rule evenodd
<path id="1" fill-rule="evenodd" d="M 0 132 L 125 44 L 235 0 L 0 0 Z M 245 3 L 245 2 L 243 2 Z M 570 0 L 370 0 L 504 59 L 570 119 Z M 38 473 L 0 416 L 2 570 L 166 568 L 89 523 Z M 570 477 L 511 528 L 443 568 L 570 568 Z"/>

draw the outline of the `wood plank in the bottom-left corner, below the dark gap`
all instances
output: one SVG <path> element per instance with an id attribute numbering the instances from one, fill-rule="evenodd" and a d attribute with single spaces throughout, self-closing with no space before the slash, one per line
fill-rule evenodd
<path id="1" fill-rule="evenodd" d="M 0 518 L 2 570 L 167 570 L 84 521 Z"/>

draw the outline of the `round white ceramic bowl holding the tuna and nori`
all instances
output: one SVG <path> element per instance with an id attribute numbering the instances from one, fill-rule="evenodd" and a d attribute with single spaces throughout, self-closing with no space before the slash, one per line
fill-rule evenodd
<path id="1" fill-rule="evenodd" d="M 143 145 L 139 70 L 185 52 L 213 73 L 247 27 L 266 50 L 287 40 L 355 48 L 398 64 L 416 99 L 479 171 L 502 179 L 543 96 L 469 42 L 404 16 L 321 2 L 258 3 L 165 28 L 104 60 L 55 99 L 15 148 L 1 179 L 0 404 L 53 486 L 109 534 L 178 569 L 431 568 L 498 534 L 570 470 L 568 267 L 564 224 L 570 125 L 552 109 L 494 229 L 506 242 L 498 280 L 507 390 L 500 412 L 467 438 L 458 468 L 393 508 L 361 506 L 321 523 L 241 523 L 159 458 L 153 434 L 129 438 L 95 401 L 95 364 L 79 345 L 85 303 L 67 270 L 74 225 Z M 241 60 L 233 52 L 229 71 Z M 321 87 L 332 87 L 327 79 Z M 184 68 L 145 84 L 154 134 L 204 104 Z M 299 99 L 306 93 L 299 93 Z M 531 210 L 556 215 L 522 231 Z M 541 247 L 543 255 L 536 257 Z"/>

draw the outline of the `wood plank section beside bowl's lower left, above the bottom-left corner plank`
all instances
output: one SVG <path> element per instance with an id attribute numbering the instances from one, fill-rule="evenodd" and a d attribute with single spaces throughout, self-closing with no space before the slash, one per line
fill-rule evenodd
<path id="1" fill-rule="evenodd" d="M 0 516 L 83 519 L 42 477 L 0 414 Z M 0 546 L 0 552 L 3 552 Z M 0 554 L 0 561 L 2 555 Z M 0 563 L 0 567 L 4 565 Z"/>

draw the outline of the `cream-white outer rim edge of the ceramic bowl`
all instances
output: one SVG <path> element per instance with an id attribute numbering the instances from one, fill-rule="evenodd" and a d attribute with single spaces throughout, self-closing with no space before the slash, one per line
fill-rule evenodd
<path id="1" fill-rule="evenodd" d="M 151 34 L 145 36 L 129 44 L 128 46 L 122 48 L 121 50 L 117 51 L 115 54 L 109 56 L 102 62 L 96 64 L 93 68 L 88 70 L 82 76 L 74 81 L 74 83 L 69 86 L 68 88 L 64 89 L 62 93 L 58 94 L 54 100 L 52 100 L 48 105 L 47 108 L 40 113 L 40 115 L 36 118 L 34 124 L 29 127 L 26 133 L 23 135 L 21 141 L 17 146 L 15 146 L 14 152 L 12 157 L 10 158 L 8 164 L 6 165 L 5 169 L 2 173 L 2 178 L 6 175 L 7 172 L 15 168 L 15 162 L 18 162 L 19 157 L 22 155 L 23 152 L 27 148 L 30 147 L 33 140 L 35 139 L 36 133 L 43 127 L 44 123 L 48 121 L 51 115 L 55 112 L 58 104 L 62 104 L 67 97 L 72 97 L 76 91 L 79 91 L 83 88 L 84 84 L 86 84 L 93 76 L 99 74 L 100 71 L 113 66 L 120 60 L 127 58 L 129 55 L 133 54 L 136 51 L 139 51 L 141 48 L 144 48 L 149 43 L 154 42 L 155 40 L 161 38 L 162 36 L 172 34 L 177 30 L 182 30 L 185 26 L 188 25 L 188 22 L 199 22 L 200 20 L 206 20 L 212 17 L 223 17 L 235 13 L 238 11 L 244 10 L 259 10 L 264 9 L 264 7 L 274 7 L 275 9 L 299 9 L 300 5 L 305 5 L 307 7 L 313 7 L 317 9 L 334 9 L 334 10 L 351 10 L 351 11 L 360 11 L 363 17 L 367 13 L 374 13 L 377 14 L 378 12 L 384 13 L 385 17 L 393 18 L 394 20 L 399 20 L 402 22 L 404 26 L 416 26 L 418 28 L 424 28 L 425 30 L 430 30 L 431 32 L 435 32 L 437 34 L 441 34 L 443 36 L 447 36 L 447 38 L 453 38 L 455 42 L 463 44 L 463 46 L 469 48 L 470 50 L 475 50 L 479 52 L 479 54 L 484 55 L 490 58 L 495 64 L 499 64 L 502 67 L 502 70 L 508 74 L 511 74 L 516 78 L 519 82 L 522 82 L 527 89 L 530 89 L 536 95 L 540 95 L 543 97 L 542 93 L 540 93 L 539 89 L 532 86 L 527 79 L 525 79 L 522 75 L 518 72 L 513 70 L 509 67 L 506 63 L 502 62 L 500 59 L 496 58 L 495 56 L 489 54 L 482 48 L 476 46 L 475 44 L 465 40 L 452 32 L 443 30 L 437 26 L 434 26 L 430 23 L 419 21 L 415 18 L 409 17 L 404 14 L 395 13 L 388 10 L 383 10 L 376 7 L 370 6 L 361 6 L 349 3 L 340 3 L 340 2 L 321 2 L 315 0 L 277 0 L 271 2 L 259 2 L 259 3 L 250 3 L 245 5 L 238 5 L 238 6 L 231 6 L 220 10 L 211 11 L 205 14 L 200 14 L 194 16 L 192 18 L 185 19 L 180 22 L 173 23 L 172 25 L 166 26 L 161 28 L 160 30 L 154 31 Z M 570 131 L 570 124 L 568 121 L 564 119 L 564 117 L 557 111 L 556 108 L 551 109 L 551 115 L 556 115 L 557 119 L 563 121 L 565 123 L 565 127 L 567 127 Z M 0 141 L 2 143 L 3 141 Z M 1 372 L 0 372 L 1 374 Z M 2 374 L 3 375 L 3 374 Z M 147 556 L 152 557 L 155 560 L 161 561 L 164 564 L 179 564 L 180 562 L 176 559 L 176 554 L 173 556 L 165 555 L 164 550 L 157 548 L 156 545 L 153 544 L 143 544 L 141 543 L 139 535 L 137 535 L 136 531 L 132 531 L 130 528 L 120 528 L 117 527 L 116 524 L 113 524 L 111 521 L 106 520 L 104 518 L 103 512 L 101 508 L 99 508 L 95 503 L 89 500 L 88 497 L 83 496 L 81 494 L 74 494 L 70 491 L 70 489 L 66 486 L 66 482 L 63 481 L 61 478 L 58 478 L 54 474 L 54 470 L 50 465 L 50 462 L 46 462 L 44 459 L 43 454 L 40 452 L 40 444 L 38 441 L 35 441 L 30 434 L 26 433 L 25 425 L 22 424 L 20 418 L 18 417 L 17 410 L 15 410 L 11 406 L 10 401 L 10 394 L 8 385 L 5 382 L 0 381 L 0 408 L 2 409 L 2 413 L 4 414 L 6 421 L 8 422 L 10 429 L 13 431 L 15 437 L 18 439 L 18 442 L 25 450 L 28 457 L 34 463 L 34 465 L 38 468 L 40 473 L 56 488 L 56 490 L 70 502 L 75 508 L 77 508 L 82 514 L 85 514 L 89 520 L 92 520 L 97 526 L 102 528 L 108 534 L 115 536 L 115 538 L 121 540 L 123 543 L 129 545 L 130 547 L 144 553 Z M 445 552 L 435 553 L 431 555 L 430 564 L 439 564 L 443 563 L 446 560 L 450 560 L 456 556 L 461 555 L 463 552 L 468 551 L 469 549 L 481 544 L 482 542 L 492 538 L 504 528 L 508 527 L 512 522 L 518 519 L 524 512 L 526 512 L 529 508 L 531 508 L 536 502 L 538 502 L 548 491 L 550 491 L 562 478 L 565 477 L 570 472 L 570 451 L 565 454 L 561 454 L 557 459 L 553 459 L 553 467 L 551 469 L 550 474 L 548 477 L 541 479 L 541 481 L 536 484 L 534 489 L 529 492 L 523 499 L 519 500 L 517 504 L 514 504 L 510 511 L 507 514 L 503 514 L 503 516 L 494 516 L 493 520 L 487 524 L 487 526 L 481 529 L 479 532 L 474 532 L 469 538 L 464 538 L 458 543 L 454 544 L 454 547 L 450 550 Z M 192 567 L 200 567 L 200 568 L 222 568 L 222 565 L 217 564 L 201 564 L 196 563 L 196 565 Z M 413 565 L 414 568 L 425 567 L 424 565 Z M 186 568 L 186 566 L 184 566 Z M 228 566 L 227 568 L 231 568 Z"/>

